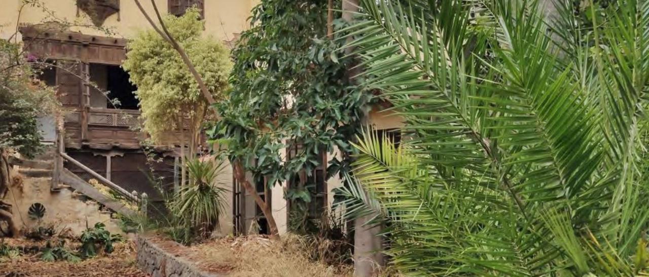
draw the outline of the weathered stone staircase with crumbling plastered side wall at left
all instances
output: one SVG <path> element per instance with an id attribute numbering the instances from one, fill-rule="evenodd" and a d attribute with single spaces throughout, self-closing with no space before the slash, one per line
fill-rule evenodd
<path id="1" fill-rule="evenodd" d="M 126 216 L 136 213 L 128 206 L 119 201 L 107 197 L 78 175 L 63 169 L 59 183 L 52 188 L 53 170 L 55 168 L 55 150 L 49 149 L 34 159 L 10 158 L 10 164 L 19 166 L 18 172 L 23 175 L 23 188 L 16 190 L 13 196 L 14 202 L 18 204 L 19 213 L 25 213 L 29 205 L 43 203 L 52 212 L 58 212 L 57 220 L 62 224 L 81 225 L 85 223 L 93 225 L 96 222 L 112 221 L 111 214 L 117 212 Z M 89 201 L 92 200 L 92 201 Z M 46 204 L 47 203 L 47 204 Z M 101 204 L 104 209 L 99 205 Z M 16 212 L 16 211 L 14 211 Z M 59 218 L 60 217 L 60 218 Z M 86 221 L 79 222 L 79 221 Z M 106 224 L 108 227 L 108 224 Z M 116 224 L 112 228 L 117 228 Z"/>

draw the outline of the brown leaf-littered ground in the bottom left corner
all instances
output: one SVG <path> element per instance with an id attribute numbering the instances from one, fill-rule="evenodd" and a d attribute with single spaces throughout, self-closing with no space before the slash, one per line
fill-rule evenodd
<path id="1" fill-rule="evenodd" d="M 0 260 L 0 277 L 22 276 L 149 276 L 138 270 L 134 243 L 118 243 L 115 252 L 97 256 L 79 263 L 41 261 L 36 249 L 42 242 L 27 239 L 4 239 L 7 245 L 20 247 L 21 256 Z"/>

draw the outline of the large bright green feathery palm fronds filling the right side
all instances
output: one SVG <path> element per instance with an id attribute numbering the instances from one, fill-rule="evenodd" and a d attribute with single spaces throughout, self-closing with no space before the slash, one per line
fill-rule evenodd
<path id="1" fill-rule="evenodd" d="M 648 272 L 649 1 L 581 1 L 589 24 L 573 2 L 363 0 L 342 30 L 406 122 L 399 148 L 360 138 L 369 197 L 345 189 L 401 272 Z"/>

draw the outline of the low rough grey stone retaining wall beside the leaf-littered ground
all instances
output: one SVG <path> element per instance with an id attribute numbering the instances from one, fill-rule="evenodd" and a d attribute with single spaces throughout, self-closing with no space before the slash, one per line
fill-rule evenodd
<path id="1" fill-rule="evenodd" d="M 165 244 L 175 243 L 165 241 Z M 175 243 L 178 247 L 180 244 Z M 154 239 L 138 236 L 138 267 L 153 277 L 219 277 L 224 275 L 209 274 L 194 267 L 190 261 L 177 257 L 162 249 Z"/>

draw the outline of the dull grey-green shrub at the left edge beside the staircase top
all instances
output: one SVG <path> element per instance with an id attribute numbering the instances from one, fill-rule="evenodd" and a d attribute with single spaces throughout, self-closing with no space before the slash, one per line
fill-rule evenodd
<path id="1" fill-rule="evenodd" d="M 21 46 L 0 40 L 0 149 L 12 148 L 31 157 L 40 149 L 38 116 L 53 114 L 54 91 L 35 80 Z"/>

